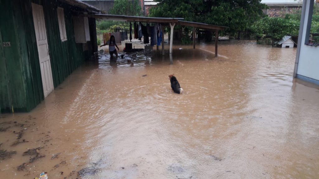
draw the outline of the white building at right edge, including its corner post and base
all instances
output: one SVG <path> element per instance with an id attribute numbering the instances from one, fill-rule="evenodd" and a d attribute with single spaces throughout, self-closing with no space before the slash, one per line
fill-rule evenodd
<path id="1" fill-rule="evenodd" d="M 314 0 L 303 0 L 293 77 L 319 84 L 319 46 L 309 42 L 313 7 Z"/>

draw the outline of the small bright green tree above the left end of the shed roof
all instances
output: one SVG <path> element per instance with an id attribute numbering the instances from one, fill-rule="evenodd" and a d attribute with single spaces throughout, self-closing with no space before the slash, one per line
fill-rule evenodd
<path id="1" fill-rule="evenodd" d="M 115 0 L 113 7 L 110 9 L 110 14 L 139 16 L 142 13 L 138 0 L 134 0 L 133 2 L 130 2 L 129 0 Z"/>

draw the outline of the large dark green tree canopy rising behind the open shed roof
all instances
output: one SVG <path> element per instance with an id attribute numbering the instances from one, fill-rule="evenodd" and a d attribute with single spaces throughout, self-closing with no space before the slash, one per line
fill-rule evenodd
<path id="1" fill-rule="evenodd" d="M 150 17 L 175 17 L 187 21 L 228 26 L 226 33 L 245 31 L 262 18 L 267 6 L 261 0 L 157 0 Z"/>

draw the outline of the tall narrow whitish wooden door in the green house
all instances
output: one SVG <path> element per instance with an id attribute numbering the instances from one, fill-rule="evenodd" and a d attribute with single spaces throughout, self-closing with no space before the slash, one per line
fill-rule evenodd
<path id="1" fill-rule="evenodd" d="M 32 3 L 34 30 L 37 39 L 44 97 L 53 90 L 52 69 L 49 56 L 48 38 L 44 22 L 43 7 Z"/>

